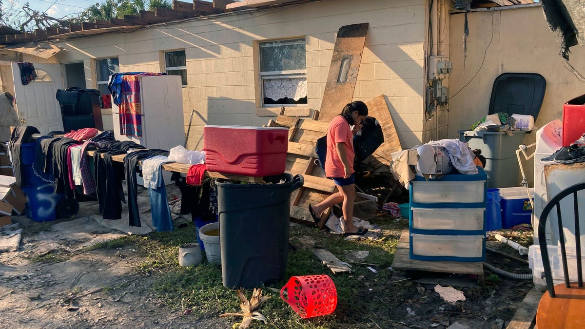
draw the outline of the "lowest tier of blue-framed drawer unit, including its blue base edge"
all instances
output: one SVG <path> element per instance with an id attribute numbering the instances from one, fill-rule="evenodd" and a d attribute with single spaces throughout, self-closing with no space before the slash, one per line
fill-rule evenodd
<path id="1" fill-rule="evenodd" d="M 481 262 L 485 259 L 484 235 L 410 234 L 410 258 L 420 261 Z"/>

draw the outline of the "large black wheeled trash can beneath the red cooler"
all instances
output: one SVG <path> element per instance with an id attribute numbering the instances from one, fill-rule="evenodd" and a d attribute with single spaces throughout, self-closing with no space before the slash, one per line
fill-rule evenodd
<path id="1" fill-rule="evenodd" d="M 250 289 L 286 273 L 290 196 L 304 179 L 285 173 L 264 181 L 216 182 L 222 278 L 229 289 Z"/>

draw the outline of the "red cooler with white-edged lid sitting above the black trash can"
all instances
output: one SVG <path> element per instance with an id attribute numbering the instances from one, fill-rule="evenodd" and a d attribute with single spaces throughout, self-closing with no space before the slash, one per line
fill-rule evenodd
<path id="1" fill-rule="evenodd" d="M 263 177 L 286 169 L 288 128 L 205 126 L 203 139 L 210 172 Z"/>

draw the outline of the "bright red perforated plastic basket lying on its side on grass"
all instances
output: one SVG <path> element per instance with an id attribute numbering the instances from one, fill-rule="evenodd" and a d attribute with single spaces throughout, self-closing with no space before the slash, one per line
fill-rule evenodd
<path id="1" fill-rule="evenodd" d="M 284 290 L 287 290 L 287 297 L 284 297 Z M 335 284 L 326 275 L 293 276 L 280 290 L 280 297 L 301 318 L 326 316 L 337 306 Z"/>

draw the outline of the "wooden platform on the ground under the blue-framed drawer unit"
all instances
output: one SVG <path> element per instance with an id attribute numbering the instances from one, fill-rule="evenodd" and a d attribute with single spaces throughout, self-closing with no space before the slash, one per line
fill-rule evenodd
<path id="1" fill-rule="evenodd" d="M 477 280 L 483 280 L 482 262 L 452 262 L 452 261 L 418 261 L 410 259 L 408 229 L 402 231 L 398 247 L 392 262 L 394 270 L 439 272 L 477 275 Z"/>

